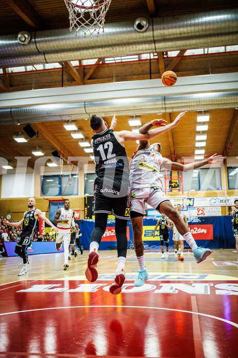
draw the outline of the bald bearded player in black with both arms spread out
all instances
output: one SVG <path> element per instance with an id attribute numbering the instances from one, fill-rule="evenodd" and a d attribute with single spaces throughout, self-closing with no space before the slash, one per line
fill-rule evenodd
<path id="1" fill-rule="evenodd" d="M 35 199 L 34 197 L 30 197 L 28 200 L 28 208 L 29 210 L 26 211 L 23 215 L 21 221 L 18 222 L 8 222 L 5 221 L 4 225 L 10 226 L 22 226 L 23 231 L 20 234 L 19 241 L 16 244 L 15 253 L 23 259 L 23 262 L 19 265 L 23 266 L 23 269 L 20 271 L 18 276 L 24 276 L 28 273 L 27 270 L 27 263 L 28 262 L 28 255 L 27 255 L 27 248 L 31 245 L 32 240 L 35 236 L 35 227 L 40 217 L 44 220 L 48 225 L 52 227 L 53 230 L 58 232 L 58 229 L 46 218 L 45 215 L 39 209 L 35 208 Z"/>

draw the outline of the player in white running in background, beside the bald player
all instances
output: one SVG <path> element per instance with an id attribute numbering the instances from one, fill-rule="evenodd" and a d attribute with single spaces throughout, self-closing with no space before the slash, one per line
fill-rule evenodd
<path id="1" fill-rule="evenodd" d="M 71 240 L 71 222 L 74 224 L 74 211 L 70 209 L 70 201 L 68 199 L 64 200 L 63 208 L 58 209 L 54 223 L 57 224 L 58 232 L 56 234 L 56 249 L 59 251 L 61 249 L 62 243 L 64 242 L 64 264 L 63 269 L 67 270 L 69 267 L 68 257 L 69 257 L 69 244 Z"/>

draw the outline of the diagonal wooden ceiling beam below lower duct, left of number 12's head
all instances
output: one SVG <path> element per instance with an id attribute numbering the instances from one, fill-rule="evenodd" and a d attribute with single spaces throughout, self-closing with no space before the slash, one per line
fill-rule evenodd
<path id="1" fill-rule="evenodd" d="M 63 153 L 66 159 L 69 156 L 76 157 L 44 123 L 34 123 L 33 126 L 58 153 Z M 79 167 L 81 169 L 81 166 Z"/>

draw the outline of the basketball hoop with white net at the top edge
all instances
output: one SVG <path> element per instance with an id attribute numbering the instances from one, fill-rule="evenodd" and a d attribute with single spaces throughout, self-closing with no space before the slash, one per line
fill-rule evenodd
<path id="1" fill-rule="evenodd" d="M 81 29 L 86 36 L 86 32 L 92 34 L 97 33 L 102 28 L 104 32 L 105 15 L 112 0 L 64 0 L 67 9 L 69 10 L 70 31 L 72 28 L 76 30 Z"/>

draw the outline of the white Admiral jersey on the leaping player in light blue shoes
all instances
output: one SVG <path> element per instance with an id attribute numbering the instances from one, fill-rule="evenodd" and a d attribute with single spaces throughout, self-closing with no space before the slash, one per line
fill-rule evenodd
<path id="1" fill-rule="evenodd" d="M 159 186 L 162 189 L 162 182 L 159 179 L 162 163 L 163 157 L 154 150 L 153 145 L 133 153 L 129 174 L 132 188 Z"/>

